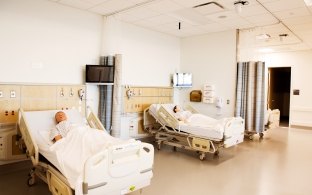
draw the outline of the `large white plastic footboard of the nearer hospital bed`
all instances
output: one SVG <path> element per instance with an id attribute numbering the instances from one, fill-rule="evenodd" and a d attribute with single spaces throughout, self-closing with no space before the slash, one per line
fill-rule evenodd
<path id="1" fill-rule="evenodd" d="M 132 176 L 135 179 L 152 171 L 153 161 L 154 147 L 151 144 L 135 141 L 112 145 L 86 161 L 83 192 L 89 194 L 89 190 L 112 186 L 122 178 Z"/>

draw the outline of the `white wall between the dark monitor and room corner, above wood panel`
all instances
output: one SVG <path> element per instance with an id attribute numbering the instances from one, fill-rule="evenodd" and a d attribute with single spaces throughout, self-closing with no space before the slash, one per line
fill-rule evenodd
<path id="1" fill-rule="evenodd" d="M 102 55 L 122 54 L 124 85 L 170 86 L 180 66 L 180 39 L 127 24 L 104 20 Z"/>

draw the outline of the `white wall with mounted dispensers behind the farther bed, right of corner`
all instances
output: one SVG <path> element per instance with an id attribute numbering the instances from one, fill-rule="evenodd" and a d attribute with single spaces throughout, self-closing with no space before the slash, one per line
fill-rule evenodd
<path id="1" fill-rule="evenodd" d="M 211 117 L 234 115 L 236 85 L 236 31 L 211 33 L 182 39 L 181 72 L 193 73 L 192 89 L 180 90 L 180 103 L 189 102 L 191 90 L 215 85 L 216 96 L 223 98 L 221 115 L 215 104 L 192 102 L 195 108 Z M 177 89 L 178 90 L 178 89 Z M 226 104 L 230 100 L 230 104 Z"/>

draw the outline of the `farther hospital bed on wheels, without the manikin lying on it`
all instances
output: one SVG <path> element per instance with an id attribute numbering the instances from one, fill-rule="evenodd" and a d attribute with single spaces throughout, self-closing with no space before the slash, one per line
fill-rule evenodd
<path id="1" fill-rule="evenodd" d="M 155 136 L 158 149 L 162 144 L 194 150 L 200 160 L 207 153 L 219 154 L 219 148 L 228 148 L 244 140 L 244 120 L 240 117 L 211 119 L 213 124 L 182 122 L 174 116 L 174 104 L 152 104 L 144 110 L 144 128 Z M 193 114 L 198 113 L 191 106 L 185 108 Z M 155 128 L 150 116 L 159 126 Z M 201 115 L 198 115 L 201 117 Z M 206 116 L 202 115 L 203 118 Z M 157 126 L 157 125 L 156 125 Z"/>

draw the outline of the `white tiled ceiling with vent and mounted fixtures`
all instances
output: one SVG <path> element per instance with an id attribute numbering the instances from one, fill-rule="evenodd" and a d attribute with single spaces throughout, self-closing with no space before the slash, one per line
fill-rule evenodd
<path id="1" fill-rule="evenodd" d="M 256 47 L 275 51 L 312 49 L 312 6 L 306 6 L 304 0 L 246 0 L 249 4 L 239 14 L 234 6 L 236 0 L 50 1 L 178 37 L 240 29 L 242 34 L 253 37 Z M 215 3 L 194 8 L 208 2 Z M 269 34 L 270 38 L 255 39 L 259 34 Z M 288 36 L 280 39 L 280 34 Z"/>

